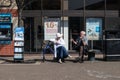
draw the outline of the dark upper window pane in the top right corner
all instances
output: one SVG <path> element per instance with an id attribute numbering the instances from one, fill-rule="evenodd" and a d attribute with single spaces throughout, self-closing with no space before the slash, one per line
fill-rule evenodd
<path id="1" fill-rule="evenodd" d="M 120 9 L 120 0 L 106 0 L 106 9 L 107 10 L 118 10 Z"/>

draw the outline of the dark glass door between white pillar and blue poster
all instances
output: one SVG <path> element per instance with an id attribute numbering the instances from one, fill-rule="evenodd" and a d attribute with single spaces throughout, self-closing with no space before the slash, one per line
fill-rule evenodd
<path id="1" fill-rule="evenodd" d="M 84 30 L 84 18 L 69 17 L 69 38 L 76 40 L 81 30 Z M 69 41 L 69 44 L 69 49 L 73 50 L 73 43 Z"/>

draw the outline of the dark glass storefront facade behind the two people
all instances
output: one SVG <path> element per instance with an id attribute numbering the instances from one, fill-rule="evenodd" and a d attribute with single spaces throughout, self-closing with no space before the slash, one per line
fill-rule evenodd
<path id="1" fill-rule="evenodd" d="M 64 35 L 66 48 L 72 50 L 71 38 L 85 30 L 91 48 L 104 50 L 106 30 L 120 30 L 119 0 L 35 0 L 22 12 L 25 27 L 25 52 L 39 53 L 43 40 L 53 38 L 55 32 L 45 31 L 45 22 L 57 24 L 57 32 Z M 15 27 L 16 25 L 14 25 Z M 90 30 L 95 30 L 92 37 Z M 51 34 L 51 37 L 47 37 Z"/>

